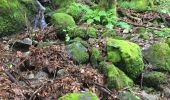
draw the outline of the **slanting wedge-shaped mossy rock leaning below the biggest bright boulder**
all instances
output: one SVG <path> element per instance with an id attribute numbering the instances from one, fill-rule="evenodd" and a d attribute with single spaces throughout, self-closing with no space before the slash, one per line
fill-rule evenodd
<path id="1" fill-rule="evenodd" d="M 132 87 L 133 81 L 126 74 L 113 64 L 106 62 L 100 63 L 100 70 L 107 77 L 107 85 L 109 88 L 122 89 L 124 87 Z"/>

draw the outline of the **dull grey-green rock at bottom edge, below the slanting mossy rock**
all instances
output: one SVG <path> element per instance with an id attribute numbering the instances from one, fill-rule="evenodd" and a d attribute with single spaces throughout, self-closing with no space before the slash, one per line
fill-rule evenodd
<path id="1" fill-rule="evenodd" d="M 119 93 L 118 100 L 141 100 L 141 99 L 131 92 L 123 91 Z"/>

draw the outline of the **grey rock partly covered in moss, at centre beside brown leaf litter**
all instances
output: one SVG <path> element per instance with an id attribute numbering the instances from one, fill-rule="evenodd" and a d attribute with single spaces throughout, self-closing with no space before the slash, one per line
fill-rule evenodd
<path id="1" fill-rule="evenodd" d="M 89 60 L 89 54 L 87 52 L 87 49 L 80 42 L 74 42 L 72 44 L 67 45 L 66 53 L 77 64 L 83 64 Z"/>

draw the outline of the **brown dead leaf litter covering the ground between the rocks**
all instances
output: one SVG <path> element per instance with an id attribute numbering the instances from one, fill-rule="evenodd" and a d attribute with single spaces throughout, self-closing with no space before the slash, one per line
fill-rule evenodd
<path id="1" fill-rule="evenodd" d="M 137 13 L 130 10 L 126 11 L 126 15 L 121 20 L 133 26 L 130 30 L 131 34 L 129 35 L 123 29 L 116 27 L 115 30 L 118 36 L 139 44 L 142 50 L 155 42 L 162 41 L 161 37 L 151 32 L 148 33 L 149 39 L 140 38 L 140 34 L 136 33 L 136 29 L 137 27 L 145 27 L 159 30 L 161 26 L 153 23 L 148 24 L 148 22 L 154 19 L 162 19 L 162 16 L 166 17 L 166 15 L 160 16 L 160 14 L 154 12 Z M 31 38 L 37 43 L 33 43 L 31 46 L 14 46 L 18 40 L 24 38 Z M 37 44 L 45 39 L 53 41 L 44 44 L 47 45 L 46 47 L 37 47 Z M 96 41 L 99 46 L 106 42 L 104 38 Z M 2 84 L 0 84 L 0 99 L 1 97 L 7 97 L 16 100 L 49 100 L 80 90 L 91 90 L 100 98 L 105 95 L 110 100 L 117 98 L 118 91 L 109 90 L 105 87 L 103 74 L 94 69 L 90 63 L 81 65 L 81 68 L 77 67 L 78 65 L 65 53 L 64 49 L 65 43 L 58 39 L 52 27 L 39 31 L 34 36 L 32 36 L 31 31 L 27 31 L 19 35 L 1 38 L 0 83 Z M 23 53 L 22 50 L 26 50 L 26 52 Z M 145 64 L 145 67 L 148 66 L 147 62 Z M 135 94 L 140 96 L 141 89 L 135 88 Z M 126 88 L 123 90 L 126 90 Z"/>

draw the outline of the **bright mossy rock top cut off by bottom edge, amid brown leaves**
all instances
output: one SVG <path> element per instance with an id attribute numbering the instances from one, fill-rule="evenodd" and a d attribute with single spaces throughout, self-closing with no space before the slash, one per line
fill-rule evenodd
<path id="1" fill-rule="evenodd" d="M 58 100 L 99 100 L 98 97 L 91 92 L 68 93 Z"/>

